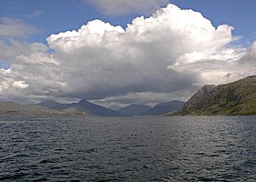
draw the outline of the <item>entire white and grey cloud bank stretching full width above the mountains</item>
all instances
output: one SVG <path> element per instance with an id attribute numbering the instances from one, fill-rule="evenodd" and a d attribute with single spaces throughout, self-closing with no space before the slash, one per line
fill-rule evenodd
<path id="1" fill-rule="evenodd" d="M 204 84 L 255 74 L 255 44 L 248 50 L 230 46 L 232 29 L 167 5 L 125 29 L 94 20 L 50 35 L 51 51 L 38 43 L 0 43 L 0 59 L 11 63 L 1 70 L 0 95 L 112 104 L 187 99 Z"/>

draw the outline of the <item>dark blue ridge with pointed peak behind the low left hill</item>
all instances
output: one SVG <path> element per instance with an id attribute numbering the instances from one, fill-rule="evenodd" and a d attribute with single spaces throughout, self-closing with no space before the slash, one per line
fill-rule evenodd
<path id="1" fill-rule="evenodd" d="M 73 111 L 73 112 L 85 112 L 92 116 L 121 116 L 118 112 L 103 106 L 92 104 L 91 102 L 82 99 L 79 103 L 60 104 L 56 101 L 44 101 L 38 104 L 39 106 L 47 106 L 51 109 L 59 111 Z"/>

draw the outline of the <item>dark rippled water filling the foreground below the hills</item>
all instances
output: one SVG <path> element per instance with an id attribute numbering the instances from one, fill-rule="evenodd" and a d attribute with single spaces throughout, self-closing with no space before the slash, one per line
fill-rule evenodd
<path id="1" fill-rule="evenodd" d="M 1 118 L 0 181 L 256 181 L 256 117 Z"/>

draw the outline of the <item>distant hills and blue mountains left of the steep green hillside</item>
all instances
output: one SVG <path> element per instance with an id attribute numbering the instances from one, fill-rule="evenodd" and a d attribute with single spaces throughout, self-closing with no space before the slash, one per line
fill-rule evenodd
<path id="1" fill-rule="evenodd" d="M 46 100 L 37 105 L 4 102 L 0 103 L 0 116 L 160 116 L 183 104 L 180 101 L 162 103 L 155 107 L 133 104 L 114 111 L 85 99 L 71 104 L 61 104 L 54 100 Z"/>

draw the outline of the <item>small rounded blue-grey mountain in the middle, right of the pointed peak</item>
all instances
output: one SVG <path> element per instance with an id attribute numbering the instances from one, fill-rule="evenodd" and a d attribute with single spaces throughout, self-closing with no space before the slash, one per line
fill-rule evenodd
<path id="1" fill-rule="evenodd" d="M 151 106 L 133 104 L 119 109 L 118 112 L 123 116 L 141 116 L 150 109 L 152 109 Z"/>

